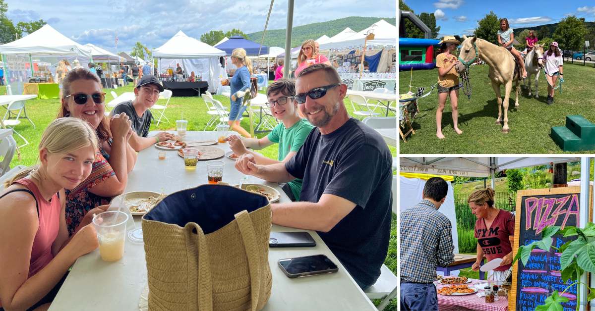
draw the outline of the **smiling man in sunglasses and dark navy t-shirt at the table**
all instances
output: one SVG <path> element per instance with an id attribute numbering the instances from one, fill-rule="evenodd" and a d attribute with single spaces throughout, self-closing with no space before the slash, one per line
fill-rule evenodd
<path id="1" fill-rule="evenodd" d="M 305 68 L 295 100 L 315 126 L 289 162 L 256 165 L 240 156 L 243 174 L 286 183 L 303 179 L 302 202 L 272 204 L 273 223 L 317 230 L 362 289 L 374 284 L 389 247 L 392 155 L 375 130 L 347 114 L 347 86 L 325 64 Z"/>

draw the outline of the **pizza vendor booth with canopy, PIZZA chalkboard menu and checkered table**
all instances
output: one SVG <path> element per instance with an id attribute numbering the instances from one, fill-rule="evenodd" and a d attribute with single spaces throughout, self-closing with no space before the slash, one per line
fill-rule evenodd
<path id="1" fill-rule="evenodd" d="M 515 233 L 509 237 L 512 244 L 513 255 L 519 245 L 527 245 L 532 241 L 541 240 L 542 232 L 546 225 L 558 225 L 560 227 L 577 226 L 585 228 L 587 222 L 593 222 L 593 178 L 590 167 L 593 158 L 590 157 L 403 157 L 400 158 L 400 192 L 414 193 L 409 185 L 415 183 L 415 174 L 436 174 L 456 175 L 463 177 L 488 177 L 491 178 L 491 187 L 495 186 L 495 174 L 504 169 L 535 167 L 539 165 L 553 165 L 565 162 L 579 162 L 580 181 L 569 181 L 561 187 L 549 189 L 529 189 L 516 192 L 516 203 L 513 206 L 515 213 Z M 408 175 L 409 174 L 409 175 Z M 413 176 L 411 176 L 413 175 Z M 401 196 L 401 208 L 413 206 L 421 199 L 417 196 Z M 445 204 L 448 202 L 446 200 Z M 405 204 L 405 206 L 403 206 Z M 440 207 L 443 211 L 444 205 Z M 452 222 L 452 219 L 451 219 Z M 453 228 L 456 222 L 452 222 Z M 568 240 L 565 236 L 553 235 L 553 245 L 556 247 Z M 569 279 L 563 282 L 560 278 L 560 253 L 558 250 L 549 251 L 536 249 L 531 252 L 527 265 L 521 260 L 512 265 L 512 273 L 508 275 L 508 281 L 503 281 L 504 288 L 510 288 L 508 294 L 500 297 L 500 301 L 487 303 L 483 296 L 449 297 L 438 295 L 440 310 L 461 310 L 463 308 L 472 310 L 535 310 L 543 304 L 546 297 L 554 290 L 560 292 L 567 285 L 577 281 Z M 563 255 L 562 255 L 563 256 Z M 570 297 L 562 303 L 564 310 L 574 310 L 577 304 L 584 310 L 587 302 L 582 297 L 587 297 L 587 275 L 583 275 L 583 284 L 568 287 L 564 297 Z M 479 280 L 471 279 L 471 285 L 477 284 Z M 512 284 L 511 284 L 512 282 Z M 594 282 L 591 279 L 591 287 Z M 509 284 L 509 285 L 507 285 Z M 440 287 L 439 287 L 440 288 Z M 478 294 L 483 294 L 479 291 Z M 577 297 L 581 301 L 577 301 Z M 562 307 L 560 310 L 562 310 Z"/>

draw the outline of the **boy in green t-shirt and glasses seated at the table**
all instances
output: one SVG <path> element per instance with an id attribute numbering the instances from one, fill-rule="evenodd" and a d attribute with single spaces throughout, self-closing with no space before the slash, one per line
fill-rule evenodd
<path id="1" fill-rule="evenodd" d="M 267 105 L 271 113 L 281 122 L 261 139 L 240 138 L 236 135 L 228 137 L 229 146 L 236 155 L 250 154 L 256 164 L 286 163 L 302 147 L 313 126 L 306 119 L 300 118 L 297 114 L 297 102 L 293 100 L 296 88 L 293 80 L 281 78 L 267 88 Z M 247 148 L 261 150 L 278 143 L 277 160 L 266 158 L 260 153 L 253 152 Z M 283 190 L 292 201 L 299 201 L 302 191 L 302 180 L 295 179 L 284 184 Z"/>

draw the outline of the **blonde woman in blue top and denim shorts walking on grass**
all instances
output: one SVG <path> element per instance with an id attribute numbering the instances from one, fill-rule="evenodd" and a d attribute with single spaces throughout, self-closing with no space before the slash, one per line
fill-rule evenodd
<path id="1" fill-rule="evenodd" d="M 243 97 L 246 92 L 250 92 L 250 76 L 252 76 L 252 61 L 246 57 L 246 50 L 242 48 L 234 49 L 231 52 L 231 64 L 237 67 L 236 73 L 230 81 L 231 108 L 229 111 L 229 121 L 227 122 L 231 129 L 244 137 L 252 137 L 248 131 L 240 125 L 242 114 L 246 110 L 246 106 L 242 106 Z"/>

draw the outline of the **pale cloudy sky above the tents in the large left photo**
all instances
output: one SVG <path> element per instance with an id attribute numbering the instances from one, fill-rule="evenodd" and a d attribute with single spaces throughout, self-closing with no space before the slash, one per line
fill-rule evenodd
<path id="1" fill-rule="evenodd" d="M 157 48 L 179 30 L 200 39 L 210 30 L 237 28 L 245 33 L 264 29 L 270 0 L 5 0 L 8 17 L 43 20 L 81 44 L 93 43 L 114 52 L 130 52 L 137 41 Z M 395 17 L 394 0 L 374 0 L 361 8 L 356 0 L 296 0 L 294 26 L 349 16 Z M 268 29 L 286 27 L 287 0 L 275 1 Z M 316 39 L 316 38 L 314 38 Z"/>

